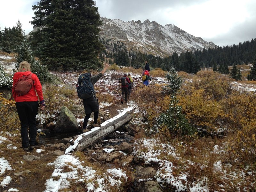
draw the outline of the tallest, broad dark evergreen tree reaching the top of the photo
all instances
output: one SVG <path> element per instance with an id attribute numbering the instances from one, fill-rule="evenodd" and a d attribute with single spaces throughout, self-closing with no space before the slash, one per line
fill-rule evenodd
<path id="1" fill-rule="evenodd" d="M 38 29 L 31 41 L 44 64 L 64 70 L 101 67 L 101 21 L 93 0 L 41 0 L 32 9 L 31 24 Z"/>

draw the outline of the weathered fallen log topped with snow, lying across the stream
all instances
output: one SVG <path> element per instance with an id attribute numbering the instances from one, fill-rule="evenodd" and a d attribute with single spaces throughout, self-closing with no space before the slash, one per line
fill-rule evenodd
<path id="1" fill-rule="evenodd" d="M 117 128 L 132 119 L 132 113 L 134 110 L 134 107 L 129 107 L 117 116 L 114 116 L 100 124 L 100 127 L 92 128 L 91 131 L 76 136 L 73 139 L 74 145 L 69 146 L 69 148 L 66 149 L 65 154 L 74 150 L 82 151 L 84 148 L 92 145 L 95 141 L 115 131 Z"/>

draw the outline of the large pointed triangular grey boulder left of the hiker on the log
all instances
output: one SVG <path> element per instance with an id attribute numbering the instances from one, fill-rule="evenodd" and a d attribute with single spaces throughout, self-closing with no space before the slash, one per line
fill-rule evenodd
<path id="1" fill-rule="evenodd" d="M 81 131 L 81 129 L 78 128 L 74 114 L 67 107 L 62 107 L 54 127 L 54 132 L 75 132 Z"/>

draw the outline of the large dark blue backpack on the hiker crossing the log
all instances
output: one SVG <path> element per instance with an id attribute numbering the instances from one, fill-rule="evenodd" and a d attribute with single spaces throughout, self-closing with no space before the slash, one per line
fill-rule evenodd
<path id="1" fill-rule="evenodd" d="M 88 99 L 94 96 L 95 92 L 91 77 L 90 73 L 84 73 L 78 77 L 76 91 L 80 99 Z"/>

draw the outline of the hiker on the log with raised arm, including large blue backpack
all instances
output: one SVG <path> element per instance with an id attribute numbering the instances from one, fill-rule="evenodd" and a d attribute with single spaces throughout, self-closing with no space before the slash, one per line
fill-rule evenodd
<path id="1" fill-rule="evenodd" d="M 95 76 L 91 76 L 90 73 L 84 73 L 80 75 L 78 78 L 76 90 L 77 90 L 78 97 L 82 99 L 83 105 L 84 105 L 84 112 L 85 112 L 84 124 L 83 124 L 84 132 L 90 131 L 90 129 L 87 129 L 87 123 L 92 112 L 94 112 L 92 127 L 100 127 L 100 125 L 97 123 L 100 106 L 94 91 L 94 84 L 100 79 L 100 77 L 103 76 L 107 68 L 108 68 L 108 64 L 106 64 L 105 68 Z"/>

